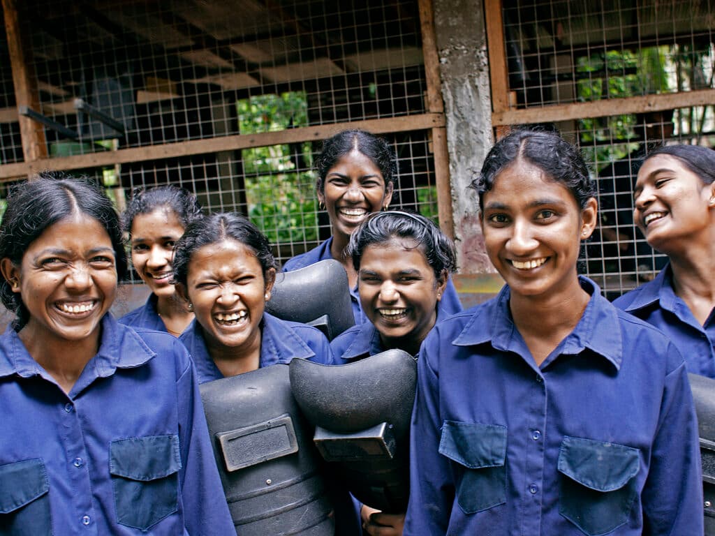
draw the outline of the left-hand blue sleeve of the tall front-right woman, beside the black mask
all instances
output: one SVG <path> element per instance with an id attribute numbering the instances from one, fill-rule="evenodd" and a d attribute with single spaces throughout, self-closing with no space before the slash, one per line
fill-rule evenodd
<path id="1" fill-rule="evenodd" d="M 448 460 L 440 455 L 440 389 L 435 362 L 439 331 L 434 330 L 418 357 L 417 394 L 410 427 L 410 502 L 403 534 L 430 536 L 447 532 L 454 501 Z"/>

